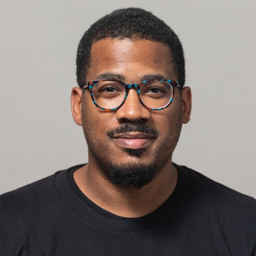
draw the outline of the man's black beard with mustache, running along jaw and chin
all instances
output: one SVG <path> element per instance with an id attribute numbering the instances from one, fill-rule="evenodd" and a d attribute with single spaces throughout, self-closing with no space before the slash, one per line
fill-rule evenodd
<path id="1" fill-rule="evenodd" d="M 86 113 L 86 111 L 83 111 L 83 113 Z M 167 139 L 165 138 L 161 143 L 158 143 L 152 160 L 147 163 L 140 159 L 143 153 L 147 150 L 146 148 L 139 150 L 123 148 L 122 150 L 134 157 L 134 160 L 120 164 L 115 163 L 111 159 L 109 144 L 106 144 L 105 149 L 102 148 L 102 141 L 96 134 L 96 131 L 92 129 L 87 114 L 82 115 L 82 127 L 88 144 L 88 150 L 104 177 L 117 186 L 135 187 L 139 189 L 152 182 L 169 160 L 170 156 L 172 156 L 181 132 L 182 112 L 179 113 L 178 119 L 179 120 L 175 127 L 173 127 L 172 132 L 169 133 Z M 145 123 L 125 122 L 116 129 L 106 132 L 106 137 L 108 138 L 107 141 L 111 142 L 113 136 L 116 134 L 129 132 L 152 134 L 159 139 L 162 137 L 159 135 L 158 130 L 147 126 Z M 114 157 L 117 158 L 118 156 Z"/>

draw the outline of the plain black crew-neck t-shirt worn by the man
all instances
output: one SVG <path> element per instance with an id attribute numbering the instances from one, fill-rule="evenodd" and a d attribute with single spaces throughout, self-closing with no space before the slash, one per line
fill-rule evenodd
<path id="1" fill-rule="evenodd" d="M 81 166 L 0 196 L 1 256 L 256 255 L 253 198 L 175 165 L 174 193 L 151 214 L 124 218 L 82 194 Z"/>

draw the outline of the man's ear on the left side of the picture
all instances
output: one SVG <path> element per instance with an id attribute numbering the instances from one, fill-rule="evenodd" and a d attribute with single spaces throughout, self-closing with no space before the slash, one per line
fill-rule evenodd
<path id="1" fill-rule="evenodd" d="M 71 111 L 75 122 L 82 125 L 82 89 L 74 87 L 71 93 Z"/>

